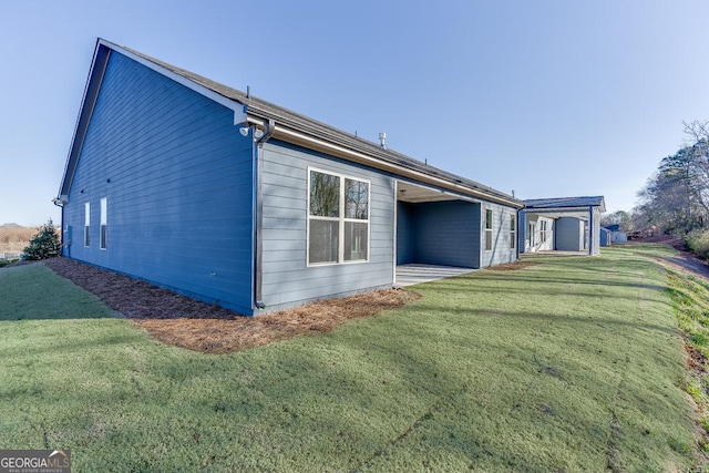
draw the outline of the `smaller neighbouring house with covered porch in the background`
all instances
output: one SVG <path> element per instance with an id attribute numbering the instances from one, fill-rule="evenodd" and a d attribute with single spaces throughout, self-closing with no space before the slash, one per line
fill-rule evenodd
<path id="1" fill-rule="evenodd" d="M 520 251 L 600 253 L 603 196 L 555 197 L 524 200 L 520 212 Z"/>

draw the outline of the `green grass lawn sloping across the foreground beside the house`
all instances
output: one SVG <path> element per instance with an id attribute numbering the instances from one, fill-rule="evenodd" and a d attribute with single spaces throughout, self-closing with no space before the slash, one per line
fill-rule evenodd
<path id="1" fill-rule="evenodd" d="M 152 340 L 40 265 L 0 269 L 0 448 L 74 471 L 687 471 L 699 448 L 646 253 L 415 286 L 328 335 L 226 356 Z"/>

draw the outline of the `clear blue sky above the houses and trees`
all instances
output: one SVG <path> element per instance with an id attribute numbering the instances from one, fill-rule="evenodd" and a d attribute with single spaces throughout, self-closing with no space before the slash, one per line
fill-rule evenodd
<path id="1" fill-rule="evenodd" d="M 709 2 L 7 1 L 0 224 L 60 219 L 96 38 L 520 198 L 629 210 L 709 120 Z"/>

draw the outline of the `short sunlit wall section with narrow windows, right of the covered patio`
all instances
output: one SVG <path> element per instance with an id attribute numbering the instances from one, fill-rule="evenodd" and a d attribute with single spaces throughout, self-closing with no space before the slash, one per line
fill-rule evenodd
<path id="1" fill-rule="evenodd" d="M 493 247 L 491 250 L 485 249 L 485 209 L 492 209 L 493 214 Z M 517 210 L 515 208 L 505 207 L 500 204 L 482 203 L 480 205 L 480 267 L 502 265 L 517 260 L 517 235 L 520 234 Z M 515 234 L 510 232 L 510 217 L 515 217 Z"/>

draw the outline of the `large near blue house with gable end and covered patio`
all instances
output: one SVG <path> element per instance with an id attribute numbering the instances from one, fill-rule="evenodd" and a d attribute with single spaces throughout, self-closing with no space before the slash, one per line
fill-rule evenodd
<path id="1" fill-rule="evenodd" d="M 516 260 L 523 207 L 101 39 L 54 202 L 63 256 L 248 316 Z"/>

